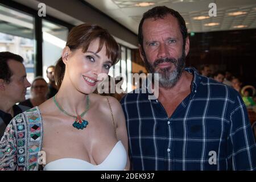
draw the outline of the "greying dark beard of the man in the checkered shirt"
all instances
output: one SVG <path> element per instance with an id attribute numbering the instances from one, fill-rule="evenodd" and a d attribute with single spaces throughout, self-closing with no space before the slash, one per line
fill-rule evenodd
<path id="1" fill-rule="evenodd" d="M 164 59 L 157 59 L 153 65 L 148 63 L 146 55 L 144 55 L 144 60 L 149 73 L 159 74 L 159 86 L 170 89 L 177 84 L 177 81 L 179 81 L 179 78 L 185 68 L 185 51 L 183 49 L 182 55 L 178 59 L 168 57 Z M 161 63 L 172 63 L 175 67 L 174 71 L 170 71 L 171 67 L 162 69 L 158 68 L 158 71 L 156 71 L 156 67 Z"/>

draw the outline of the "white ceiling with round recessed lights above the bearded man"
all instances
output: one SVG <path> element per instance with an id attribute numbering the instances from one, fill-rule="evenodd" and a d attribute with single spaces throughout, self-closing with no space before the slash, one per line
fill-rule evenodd
<path id="1" fill-rule="evenodd" d="M 167 6 L 179 11 L 185 19 L 189 32 L 208 32 L 256 28 L 256 0 L 84 0 L 107 14 L 123 26 L 138 34 L 139 21 L 145 11 L 154 6 Z M 148 7 L 135 6 L 140 2 L 152 2 Z M 216 3 L 217 16 L 204 20 L 194 20 L 195 16 L 209 16 L 209 3 Z M 246 14 L 230 16 L 229 13 L 243 11 Z M 219 23 L 205 26 L 206 23 Z M 244 25 L 246 28 L 235 28 Z"/>

